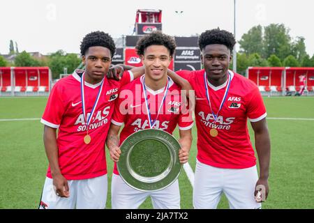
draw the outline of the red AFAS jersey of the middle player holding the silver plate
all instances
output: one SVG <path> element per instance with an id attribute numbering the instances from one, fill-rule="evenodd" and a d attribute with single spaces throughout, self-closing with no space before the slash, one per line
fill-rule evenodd
<path id="1" fill-rule="evenodd" d="M 150 128 L 142 89 L 143 78 L 144 75 L 124 86 L 116 102 L 112 123 L 120 126 L 124 124 L 120 133 L 120 144 L 130 134 Z M 153 91 L 147 86 L 146 88 L 151 119 L 156 120 L 153 128 L 172 134 L 177 125 L 179 130 L 189 130 L 193 127 L 193 118 L 188 111 L 184 98 L 181 98 L 181 88 L 172 79 L 169 79 L 169 89 L 164 102 L 165 89 Z M 158 114 L 159 107 L 160 112 Z M 119 174 L 116 163 L 114 164 L 114 174 Z"/>

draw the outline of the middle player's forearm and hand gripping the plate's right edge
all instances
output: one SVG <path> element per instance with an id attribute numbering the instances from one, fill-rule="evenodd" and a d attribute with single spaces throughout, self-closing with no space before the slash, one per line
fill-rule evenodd
<path id="1" fill-rule="evenodd" d="M 179 160 L 181 164 L 188 162 L 188 155 L 190 154 L 190 146 L 192 145 L 192 130 L 179 130 L 180 139 L 179 144 L 181 150 L 179 151 Z"/>

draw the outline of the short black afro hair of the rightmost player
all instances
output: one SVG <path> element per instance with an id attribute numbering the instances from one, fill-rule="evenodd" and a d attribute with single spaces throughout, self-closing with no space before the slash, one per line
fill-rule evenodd
<path id="1" fill-rule="evenodd" d="M 220 30 L 219 28 L 204 31 L 204 33 L 200 35 L 200 38 L 198 38 L 198 46 L 201 50 L 207 45 L 221 44 L 225 45 L 228 49 L 230 49 L 230 52 L 232 52 L 235 43 L 236 41 L 232 33 Z"/>

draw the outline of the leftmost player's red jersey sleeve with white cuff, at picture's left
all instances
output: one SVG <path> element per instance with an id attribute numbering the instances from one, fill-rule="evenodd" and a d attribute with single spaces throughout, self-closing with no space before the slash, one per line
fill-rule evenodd
<path id="1" fill-rule="evenodd" d="M 59 128 L 65 111 L 66 106 L 61 98 L 60 86 L 59 84 L 56 84 L 52 88 L 40 123 L 51 128 Z"/>

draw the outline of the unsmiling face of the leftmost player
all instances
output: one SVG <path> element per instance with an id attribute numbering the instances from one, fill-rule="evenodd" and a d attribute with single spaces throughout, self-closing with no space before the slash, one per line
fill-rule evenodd
<path id="1" fill-rule="evenodd" d="M 89 47 L 82 56 L 85 65 L 85 81 L 89 84 L 101 82 L 111 65 L 111 52 L 106 47 Z"/>

